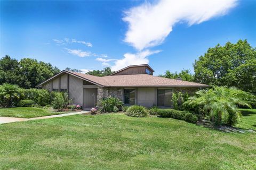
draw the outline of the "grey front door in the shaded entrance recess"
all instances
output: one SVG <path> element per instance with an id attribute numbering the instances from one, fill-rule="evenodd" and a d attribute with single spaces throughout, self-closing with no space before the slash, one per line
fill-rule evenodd
<path id="1" fill-rule="evenodd" d="M 84 108 L 95 107 L 97 103 L 97 88 L 84 88 Z"/>

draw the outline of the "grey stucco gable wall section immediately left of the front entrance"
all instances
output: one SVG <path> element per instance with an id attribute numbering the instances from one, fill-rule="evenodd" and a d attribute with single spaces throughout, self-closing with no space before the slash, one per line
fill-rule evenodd
<path id="1" fill-rule="evenodd" d="M 83 105 L 83 80 L 69 75 L 69 98 L 74 104 Z"/>

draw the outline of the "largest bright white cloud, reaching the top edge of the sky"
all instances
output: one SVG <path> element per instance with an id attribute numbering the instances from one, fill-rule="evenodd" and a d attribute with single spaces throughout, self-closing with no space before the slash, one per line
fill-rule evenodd
<path id="1" fill-rule="evenodd" d="M 162 0 L 145 2 L 125 11 L 123 20 L 129 24 L 124 41 L 138 50 L 163 43 L 179 22 L 188 25 L 225 15 L 237 0 Z"/>

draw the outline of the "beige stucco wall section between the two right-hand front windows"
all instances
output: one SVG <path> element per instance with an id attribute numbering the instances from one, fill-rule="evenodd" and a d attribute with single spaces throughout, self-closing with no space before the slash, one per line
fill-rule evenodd
<path id="1" fill-rule="evenodd" d="M 156 88 L 137 88 L 137 105 L 152 107 L 156 98 Z"/>

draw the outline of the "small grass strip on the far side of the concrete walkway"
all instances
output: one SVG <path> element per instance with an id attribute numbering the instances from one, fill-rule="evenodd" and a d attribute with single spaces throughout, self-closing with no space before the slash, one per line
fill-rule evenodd
<path id="1" fill-rule="evenodd" d="M 6 117 L 32 118 L 32 117 L 58 115 L 62 113 L 63 112 L 52 112 L 50 109 L 37 108 L 37 107 L 0 108 L 0 116 L 6 116 Z"/>

